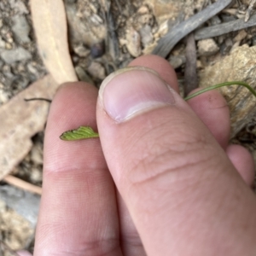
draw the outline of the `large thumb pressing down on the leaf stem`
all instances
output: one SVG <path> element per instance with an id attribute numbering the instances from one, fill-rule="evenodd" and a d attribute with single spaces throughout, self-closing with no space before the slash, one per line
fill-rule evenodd
<path id="1" fill-rule="evenodd" d="M 244 218 L 247 208 L 255 210 L 253 192 L 187 102 L 153 70 L 128 67 L 105 79 L 97 124 L 147 255 L 224 255 L 245 225 L 253 239 L 255 218 Z M 230 211 L 234 218 L 227 218 Z M 229 255 L 253 244 L 245 237 Z"/>

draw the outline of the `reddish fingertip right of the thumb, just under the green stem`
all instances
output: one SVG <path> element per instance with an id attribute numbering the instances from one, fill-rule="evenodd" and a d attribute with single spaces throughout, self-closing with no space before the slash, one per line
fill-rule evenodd
<path id="1" fill-rule="evenodd" d="M 230 109 L 218 90 L 202 93 L 190 99 L 188 104 L 207 125 L 221 147 L 227 148 L 230 139 Z"/>

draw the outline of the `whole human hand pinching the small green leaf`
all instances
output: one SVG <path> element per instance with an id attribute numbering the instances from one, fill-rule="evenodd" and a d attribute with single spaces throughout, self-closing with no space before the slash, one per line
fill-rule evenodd
<path id="1" fill-rule="evenodd" d="M 253 159 L 228 145 L 224 98 L 209 91 L 184 102 L 158 56 L 131 66 L 160 77 L 119 71 L 97 103 L 90 84 L 56 94 L 34 255 L 255 255 Z M 101 142 L 59 139 L 79 125 L 96 130 L 96 120 Z"/>

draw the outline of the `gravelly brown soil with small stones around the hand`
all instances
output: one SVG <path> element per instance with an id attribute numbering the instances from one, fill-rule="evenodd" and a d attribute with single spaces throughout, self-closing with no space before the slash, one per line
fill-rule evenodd
<path id="1" fill-rule="evenodd" d="M 220 0 L 219 0 L 220 1 Z M 105 3 L 102 7 L 102 3 Z M 65 0 L 68 21 L 70 54 L 80 80 L 100 86 L 114 70 L 125 67 L 139 55 L 148 54 L 168 27 L 176 26 L 205 8 L 208 0 Z M 208 20 L 203 26 L 236 20 L 244 15 L 244 5 L 233 5 Z M 87 25 L 87 26 L 84 26 Z M 90 29 L 88 29 L 90 27 Z M 229 55 L 238 45 L 256 44 L 255 29 L 230 32 L 212 38 L 209 44 L 196 42 L 197 72 Z M 86 36 L 84 36 L 86 35 Z M 237 39 L 237 37 L 240 37 Z M 239 42 L 239 44 L 236 44 Z M 205 45 L 205 46 L 204 46 Z M 181 40 L 167 59 L 176 69 L 183 91 L 186 41 Z M 37 49 L 28 0 L 0 2 L 0 108 L 13 96 L 47 74 Z M 256 159 L 255 122 L 251 120 L 233 139 L 246 146 Z M 29 183 L 42 185 L 44 131 L 32 137 L 32 151 L 11 173 Z M 0 183 L 0 188 L 7 186 Z M 32 252 L 35 225 L 21 216 L 6 201 L 0 200 L 0 255 L 15 255 L 12 251 Z M 2 249 L 2 251 L 1 251 Z"/>

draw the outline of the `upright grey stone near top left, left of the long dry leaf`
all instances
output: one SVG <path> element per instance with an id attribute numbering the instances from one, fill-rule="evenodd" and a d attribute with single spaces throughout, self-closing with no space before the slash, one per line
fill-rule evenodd
<path id="1" fill-rule="evenodd" d="M 12 31 L 15 33 L 15 38 L 17 38 L 22 43 L 29 43 L 30 38 L 28 34 L 30 32 L 30 26 L 26 21 L 24 15 L 15 15 L 12 17 L 14 26 L 12 26 Z"/>

